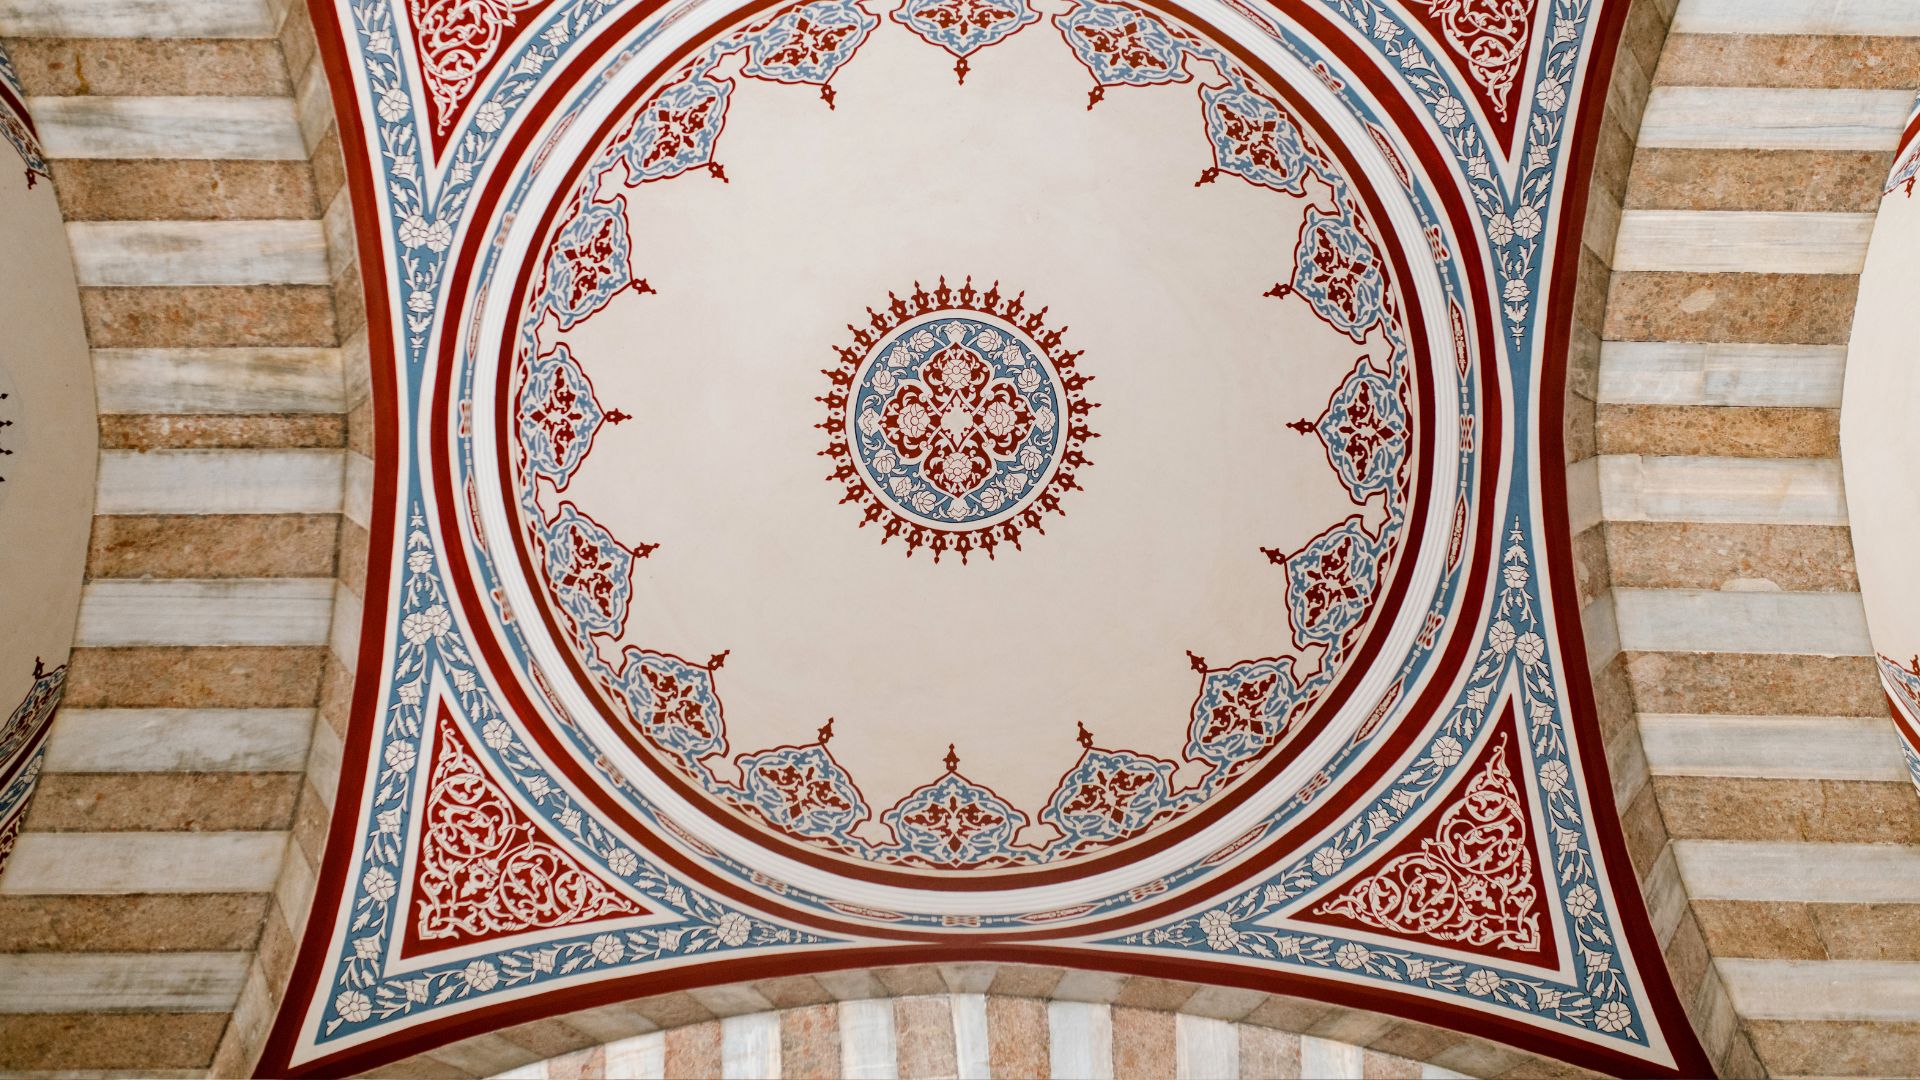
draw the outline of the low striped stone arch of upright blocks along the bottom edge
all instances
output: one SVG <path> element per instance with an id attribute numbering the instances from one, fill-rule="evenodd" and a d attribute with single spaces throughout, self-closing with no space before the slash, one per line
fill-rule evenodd
<path id="1" fill-rule="evenodd" d="M 378 1070 L 524 1076 L 1526 1076 L 1590 1072 L 1325 1001 L 1035 965 L 910 965 L 637 997 Z"/>

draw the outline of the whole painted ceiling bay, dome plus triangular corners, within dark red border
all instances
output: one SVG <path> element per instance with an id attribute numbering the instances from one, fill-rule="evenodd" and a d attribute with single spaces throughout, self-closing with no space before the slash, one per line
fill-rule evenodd
<path id="1" fill-rule="evenodd" d="M 376 527 L 263 1070 L 998 959 L 1705 1072 L 1567 546 L 1620 8 L 321 6 Z"/>

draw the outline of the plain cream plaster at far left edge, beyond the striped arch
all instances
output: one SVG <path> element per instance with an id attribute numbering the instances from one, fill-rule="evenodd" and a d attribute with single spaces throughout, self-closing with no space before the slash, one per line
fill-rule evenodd
<path id="1" fill-rule="evenodd" d="M 60 206 L 0 144 L 0 717 L 35 659 L 65 663 L 86 571 L 100 425 Z"/>

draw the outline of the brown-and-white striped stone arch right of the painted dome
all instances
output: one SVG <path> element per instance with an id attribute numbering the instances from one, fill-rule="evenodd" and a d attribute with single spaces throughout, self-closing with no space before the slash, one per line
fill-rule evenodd
<path id="1" fill-rule="evenodd" d="M 1920 799 L 1866 638 L 1837 419 L 1920 6 L 1680 0 L 1647 42 L 1620 113 L 1638 136 L 1603 150 L 1588 215 L 1607 290 L 1580 309 L 1569 455 L 1622 819 L 1726 1072 L 1905 1074 Z"/>

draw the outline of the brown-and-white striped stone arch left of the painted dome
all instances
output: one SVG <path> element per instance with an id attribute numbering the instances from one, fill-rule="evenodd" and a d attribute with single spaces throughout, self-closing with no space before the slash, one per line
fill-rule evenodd
<path id="1" fill-rule="evenodd" d="M 0 38 L 100 394 L 67 700 L 0 876 L 0 1072 L 242 1074 L 309 901 L 367 550 L 326 79 L 298 0 L 0 0 Z"/>

